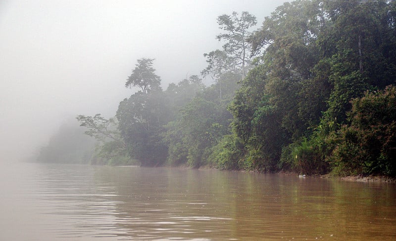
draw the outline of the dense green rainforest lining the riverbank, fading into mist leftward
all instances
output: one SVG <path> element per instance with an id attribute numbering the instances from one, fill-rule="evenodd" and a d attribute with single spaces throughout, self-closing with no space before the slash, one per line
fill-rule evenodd
<path id="1" fill-rule="evenodd" d="M 396 175 L 396 3 L 297 0 L 262 26 L 217 19 L 222 49 L 166 90 L 139 59 L 114 119 L 78 116 L 97 155 L 144 166 Z M 113 126 L 109 129 L 109 126 Z"/>

